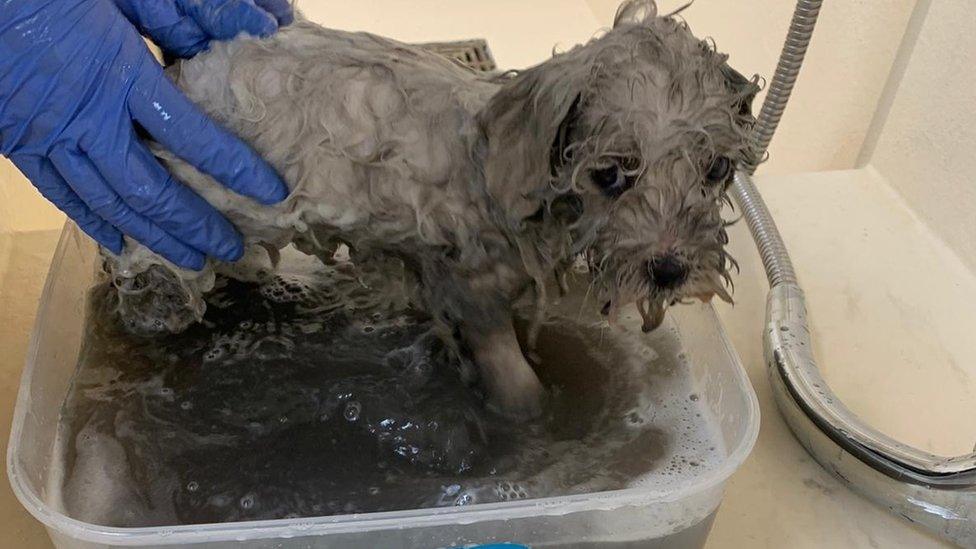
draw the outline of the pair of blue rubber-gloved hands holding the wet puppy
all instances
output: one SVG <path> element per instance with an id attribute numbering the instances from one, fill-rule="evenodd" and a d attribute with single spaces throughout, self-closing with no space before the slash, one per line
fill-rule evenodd
<path id="1" fill-rule="evenodd" d="M 273 33 L 291 17 L 286 4 L 0 2 L 0 154 L 116 254 L 125 234 L 185 268 L 202 268 L 205 256 L 239 259 L 243 243 L 234 227 L 159 164 L 136 126 L 263 204 L 283 200 L 287 188 L 250 147 L 176 89 L 133 24 L 164 49 L 188 55 L 210 39 Z"/>

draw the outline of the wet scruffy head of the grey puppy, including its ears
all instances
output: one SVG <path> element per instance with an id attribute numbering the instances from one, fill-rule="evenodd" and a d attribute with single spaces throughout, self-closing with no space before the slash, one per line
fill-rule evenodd
<path id="1" fill-rule="evenodd" d="M 540 257 L 583 254 L 607 312 L 636 302 L 646 330 L 677 301 L 730 299 L 720 212 L 758 86 L 726 59 L 632 0 L 607 34 L 518 74 L 483 113 L 506 223 L 549 246 Z"/>

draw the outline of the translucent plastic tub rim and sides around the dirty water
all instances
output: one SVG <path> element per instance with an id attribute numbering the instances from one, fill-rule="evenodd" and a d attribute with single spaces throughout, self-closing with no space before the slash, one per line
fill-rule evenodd
<path id="1" fill-rule="evenodd" d="M 152 528 L 111 528 L 66 516 L 54 458 L 58 415 L 82 343 L 85 298 L 98 276 L 94 245 L 62 234 L 41 298 L 10 435 L 7 472 L 20 502 L 59 548 L 362 547 L 433 549 L 511 541 L 531 547 L 701 547 L 725 482 L 752 450 L 759 409 L 738 356 L 708 305 L 671 309 L 692 379 L 716 419 L 724 461 L 670 490 L 611 492 L 468 507 Z"/>

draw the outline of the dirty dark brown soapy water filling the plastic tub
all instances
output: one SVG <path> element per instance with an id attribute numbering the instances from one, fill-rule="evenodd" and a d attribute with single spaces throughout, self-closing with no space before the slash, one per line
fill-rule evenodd
<path id="1" fill-rule="evenodd" d="M 724 457 L 674 332 L 546 322 L 545 415 L 512 422 L 424 315 L 323 311 L 321 284 L 221 280 L 203 323 L 152 338 L 94 290 L 59 431 L 66 512 L 135 527 L 471 505 L 667 488 Z"/>

